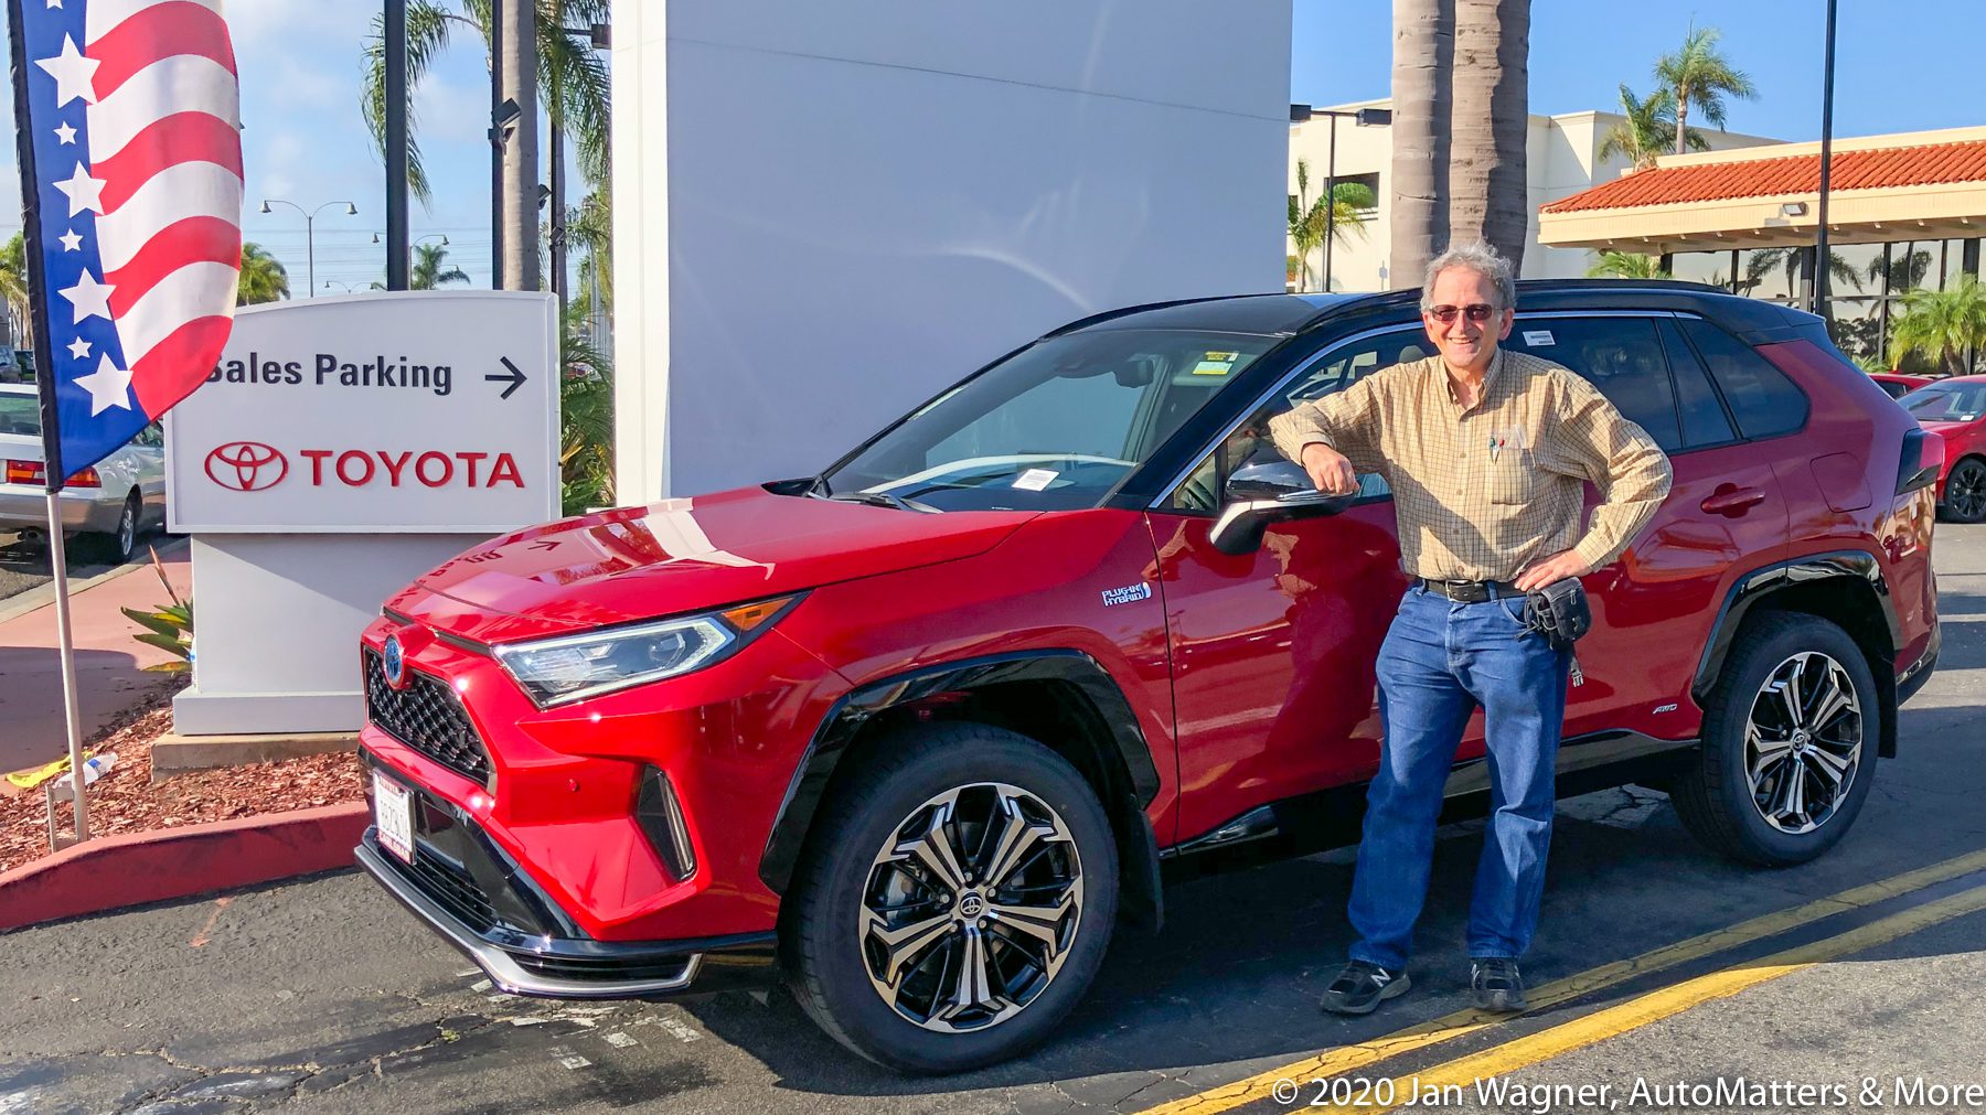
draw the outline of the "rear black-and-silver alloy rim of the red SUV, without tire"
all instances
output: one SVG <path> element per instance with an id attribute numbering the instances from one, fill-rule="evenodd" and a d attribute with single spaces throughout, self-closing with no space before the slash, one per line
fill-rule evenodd
<path id="1" fill-rule="evenodd" d="M 1841 663 L 1821 651 L 1785 659 L 1746 720 L 1752 804 L 1781 833 L 1811 833 L 1847 802 L 1861 748 L 1861 700 Z"/>

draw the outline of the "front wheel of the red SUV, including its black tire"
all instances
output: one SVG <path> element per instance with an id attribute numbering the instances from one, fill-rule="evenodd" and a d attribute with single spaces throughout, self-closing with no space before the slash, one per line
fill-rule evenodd
<path id="1" fill-rule="evenodd" d="M 1015 823 L 1027 843 L 1009 849 L 995 833 Z M 965 885 L 947 891 L 953 867 Z M 999 877 L 981 883 L 987 869 Z M 1019 883 L 1049 901 L 1021 903 Z M 1041 1044 L 1088 990 L 1116 923 L 1116 841 L 1063 756 L 987 724 L 933 724 L 884 740 L 822 807 L 788 903 L 788 984 L 830 1038 L 906 1073 L 967 1071 Z M 912 925 L 929 929 L 892 952 L 880 934 Z M 957 978 L 975 948 L 983 996 Z"/>

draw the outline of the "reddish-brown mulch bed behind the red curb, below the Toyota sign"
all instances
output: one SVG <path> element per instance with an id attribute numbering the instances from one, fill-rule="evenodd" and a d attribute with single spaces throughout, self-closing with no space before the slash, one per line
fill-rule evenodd
<path id="1" fill-rule="evenodd" d="M 83 754 L 117 752 L 117 764 L 85 790 L 89 835 L 135 833 L 336 805 L 365 798 L 357 756 L 334 752 L 254 766 L 177 774 L 151 784 L 151 744 L 173 730 L 173 694 L 185 679 L 169 679 L 119 712 Z M 48 807 L 42 786 L 0 798 L 0 871 L 48 855 Z M 68 792 L 64 792 L 68 794 Z M 58 823 L 73 827 L 68 802 L 56 804 Z"/>

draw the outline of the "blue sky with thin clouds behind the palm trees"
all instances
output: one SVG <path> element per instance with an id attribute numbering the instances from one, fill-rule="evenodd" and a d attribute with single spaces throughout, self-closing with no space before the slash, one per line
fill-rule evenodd
<path id="1" fill-rule="evenodd" d="M 1225 0 L 1233 2 L 1233 0 Z M 1341 103 L 1388 91 L 1392 4 L 1388 0 L 1293 0 L 1291 101 Z M 318 288 L 363 288 L 383 278 L 373 232 L 385 230 L 379 157 L 359 117 L 359 44 L 375 0 L 230 0 L 242 73 L 242 143 L 248 169 L 250 240 L 290 266 L 306 286 L 304 222 L 262 198 L 318 218 Z M 1817 139 L 1821 129 L 1823 0 L 1702 0 L 1698 4 L 1607 4 L 1531 0 L 1531 111 L 1611 109 L 1629 81 L 1648 91 L 1654 58 L 1674 48 L 1694 18 L 1724 30 L 1726 54 L 1760 87 L 1758 101 L 1730 109 L 1730 127 L 1779 139 Z M 1976 95 L 1980 0 L 1845 0 L 1839 12 L 1835 135 L 1875 135 L 1986 123 Z M 449 236 L 449 260 L 489 284 L 489 75 L 483 46 L 461 34 L 417 89 L 417 131 L 435 183 L 429 208 L 413 206 L 413 232 Z M 12 145 L 6 121 L 0 135 Z M 574 179 L 576 181 L 576 179 Z M 12 179 L 0 186 L 14 194 Z M 572 198 L 578 200 L 574 186 Z M 20 226 L 18 208 L 0 230 Z"/>

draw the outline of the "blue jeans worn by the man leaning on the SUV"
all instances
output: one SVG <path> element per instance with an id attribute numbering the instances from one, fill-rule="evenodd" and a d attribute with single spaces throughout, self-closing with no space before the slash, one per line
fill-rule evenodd
<path id="1" fill-rule="evenodd" d="M 1470 714 L 1490 750 L 1490 829 L 1470 899 L 1470 956 L 1523 956 L 1551 845 L 1569 657 L 1523 625 L 1523 595 L 1456 603 L 1412 587 L 1378 651 L 1386 728 L 1352 879 L 1354 960 L 1400 970 L 1428 897 L 1434 821 Z"/>

